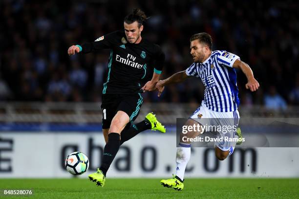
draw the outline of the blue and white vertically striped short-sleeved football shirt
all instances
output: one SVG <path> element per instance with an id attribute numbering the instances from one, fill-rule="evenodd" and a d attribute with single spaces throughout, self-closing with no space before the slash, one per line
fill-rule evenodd
<path id="1" fill-rule="evenodd" d="M 226 51 L 213 51 L 203 63 L 192 63 L 188 76 L 200 78 L 205 85 L 203 104 L 213 111 L 231 112 L 239 105 L 236 73 L 233 68 L 237 55 Z"/>

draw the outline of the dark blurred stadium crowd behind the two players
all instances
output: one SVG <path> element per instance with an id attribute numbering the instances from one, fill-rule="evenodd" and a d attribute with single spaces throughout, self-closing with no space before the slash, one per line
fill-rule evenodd
<path id="1" fill-rule="evenodd" d="M 242 105 L 299 105 L 295 0 L 1 0 L 0 100 L 100 101 L 108 52 L 69 57 L 67 49 L 122 30 L 124 17 L 136 7 L 150 16 L 142 37 L 166 54 L 162 78 L 185 70 L 192 63 L 190 36 L 208 32 L 214 50 L 240 56 L 260 83 L 260 89 L 250 93 L 246 77 L 237 72 Z M 189 79 L 169 86 L 161 98 L 146 93 L 144 100 L 198 103 L 203 91 L 200 80 Z"/>

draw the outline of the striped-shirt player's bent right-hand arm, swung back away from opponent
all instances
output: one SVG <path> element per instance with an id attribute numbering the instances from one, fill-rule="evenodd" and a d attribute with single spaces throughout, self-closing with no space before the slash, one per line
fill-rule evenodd
<path id="1" fill-rule="evenodd" d="M 254 78 L 253 72 L 247 63 L 241 60 L 235 60 L 233 67 L 241 69 L 241 71 L 245 74 L 248 81 L 245 85 L 246 89 L 250 89 L 252 92 L 258 89 L 259 83 Z"/>

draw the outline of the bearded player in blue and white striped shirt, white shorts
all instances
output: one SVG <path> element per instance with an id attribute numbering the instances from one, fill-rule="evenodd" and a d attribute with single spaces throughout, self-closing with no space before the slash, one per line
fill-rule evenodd
<path id="1" fill-rule="evenodd" d="M 241 69 L 248 82 L 246 89 L 254 92 L 259 84 L 254 78 L 249 65 L 240 60 L 237 55 L 226 51 L 212 51 L 212 38 L 207 33 L 198 33 L 190 38 L 190 49 L 193 63 L 187 70 L 173 74 L 171 77 L 160 80 L 156 84 L 158 96 L 164 90 L 164 86 L 171 83 L 179 83 L 190 77 L 200 78 L 205 85 L 204 100 L 201 106 L 195 110 L 185 125 L 193 126 L 201 124 L 201 119 L 210 121 L 209 125 L 236 125 L 239 120 L 238 113 L 238 88 L 236 84 L 236 69 Z M 218 119 L 215 120 L 215 119 Z M 216 121 L 216 122 L 215 122 Z M 203 132 L 189 132 L 189 138 Z M 222 132 L 218 132 L 220 135 Z M 240 130 L 230 131 L 226 136 L 234 138 L 242 136 Z M 224 160 L 234 152 L 236 142 L 215 142 L 215 155 L 217 159 Z M 176 152 L 176 175 L 172 179 L 162 179 L 161 184 L 182 190 L 184 188 L 184 173 L 191 155 L 191 142 L 180 140 Z"/>

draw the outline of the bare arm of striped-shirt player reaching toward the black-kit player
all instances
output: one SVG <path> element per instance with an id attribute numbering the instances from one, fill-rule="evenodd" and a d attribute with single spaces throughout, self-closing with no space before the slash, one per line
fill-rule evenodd
<path id="1" fill-rule="evenodd" d="M 156 84 L 156 89 L 159 91 L 158 97 L 161 96 L 161 94 L 164 90 L 164 86 L 166 86 L 168 84 L 172 84 L 172 83 L 180 83 L 180 82 L 186 80 L 187 78 L 191 78 L 191 76 L 188 76 L 186 74 L 186 71 L 181 71 L 181 72 L 171 75 L 171 77 L 169 77 L 165 80 L 158 81 L 158 83 Z"/>

